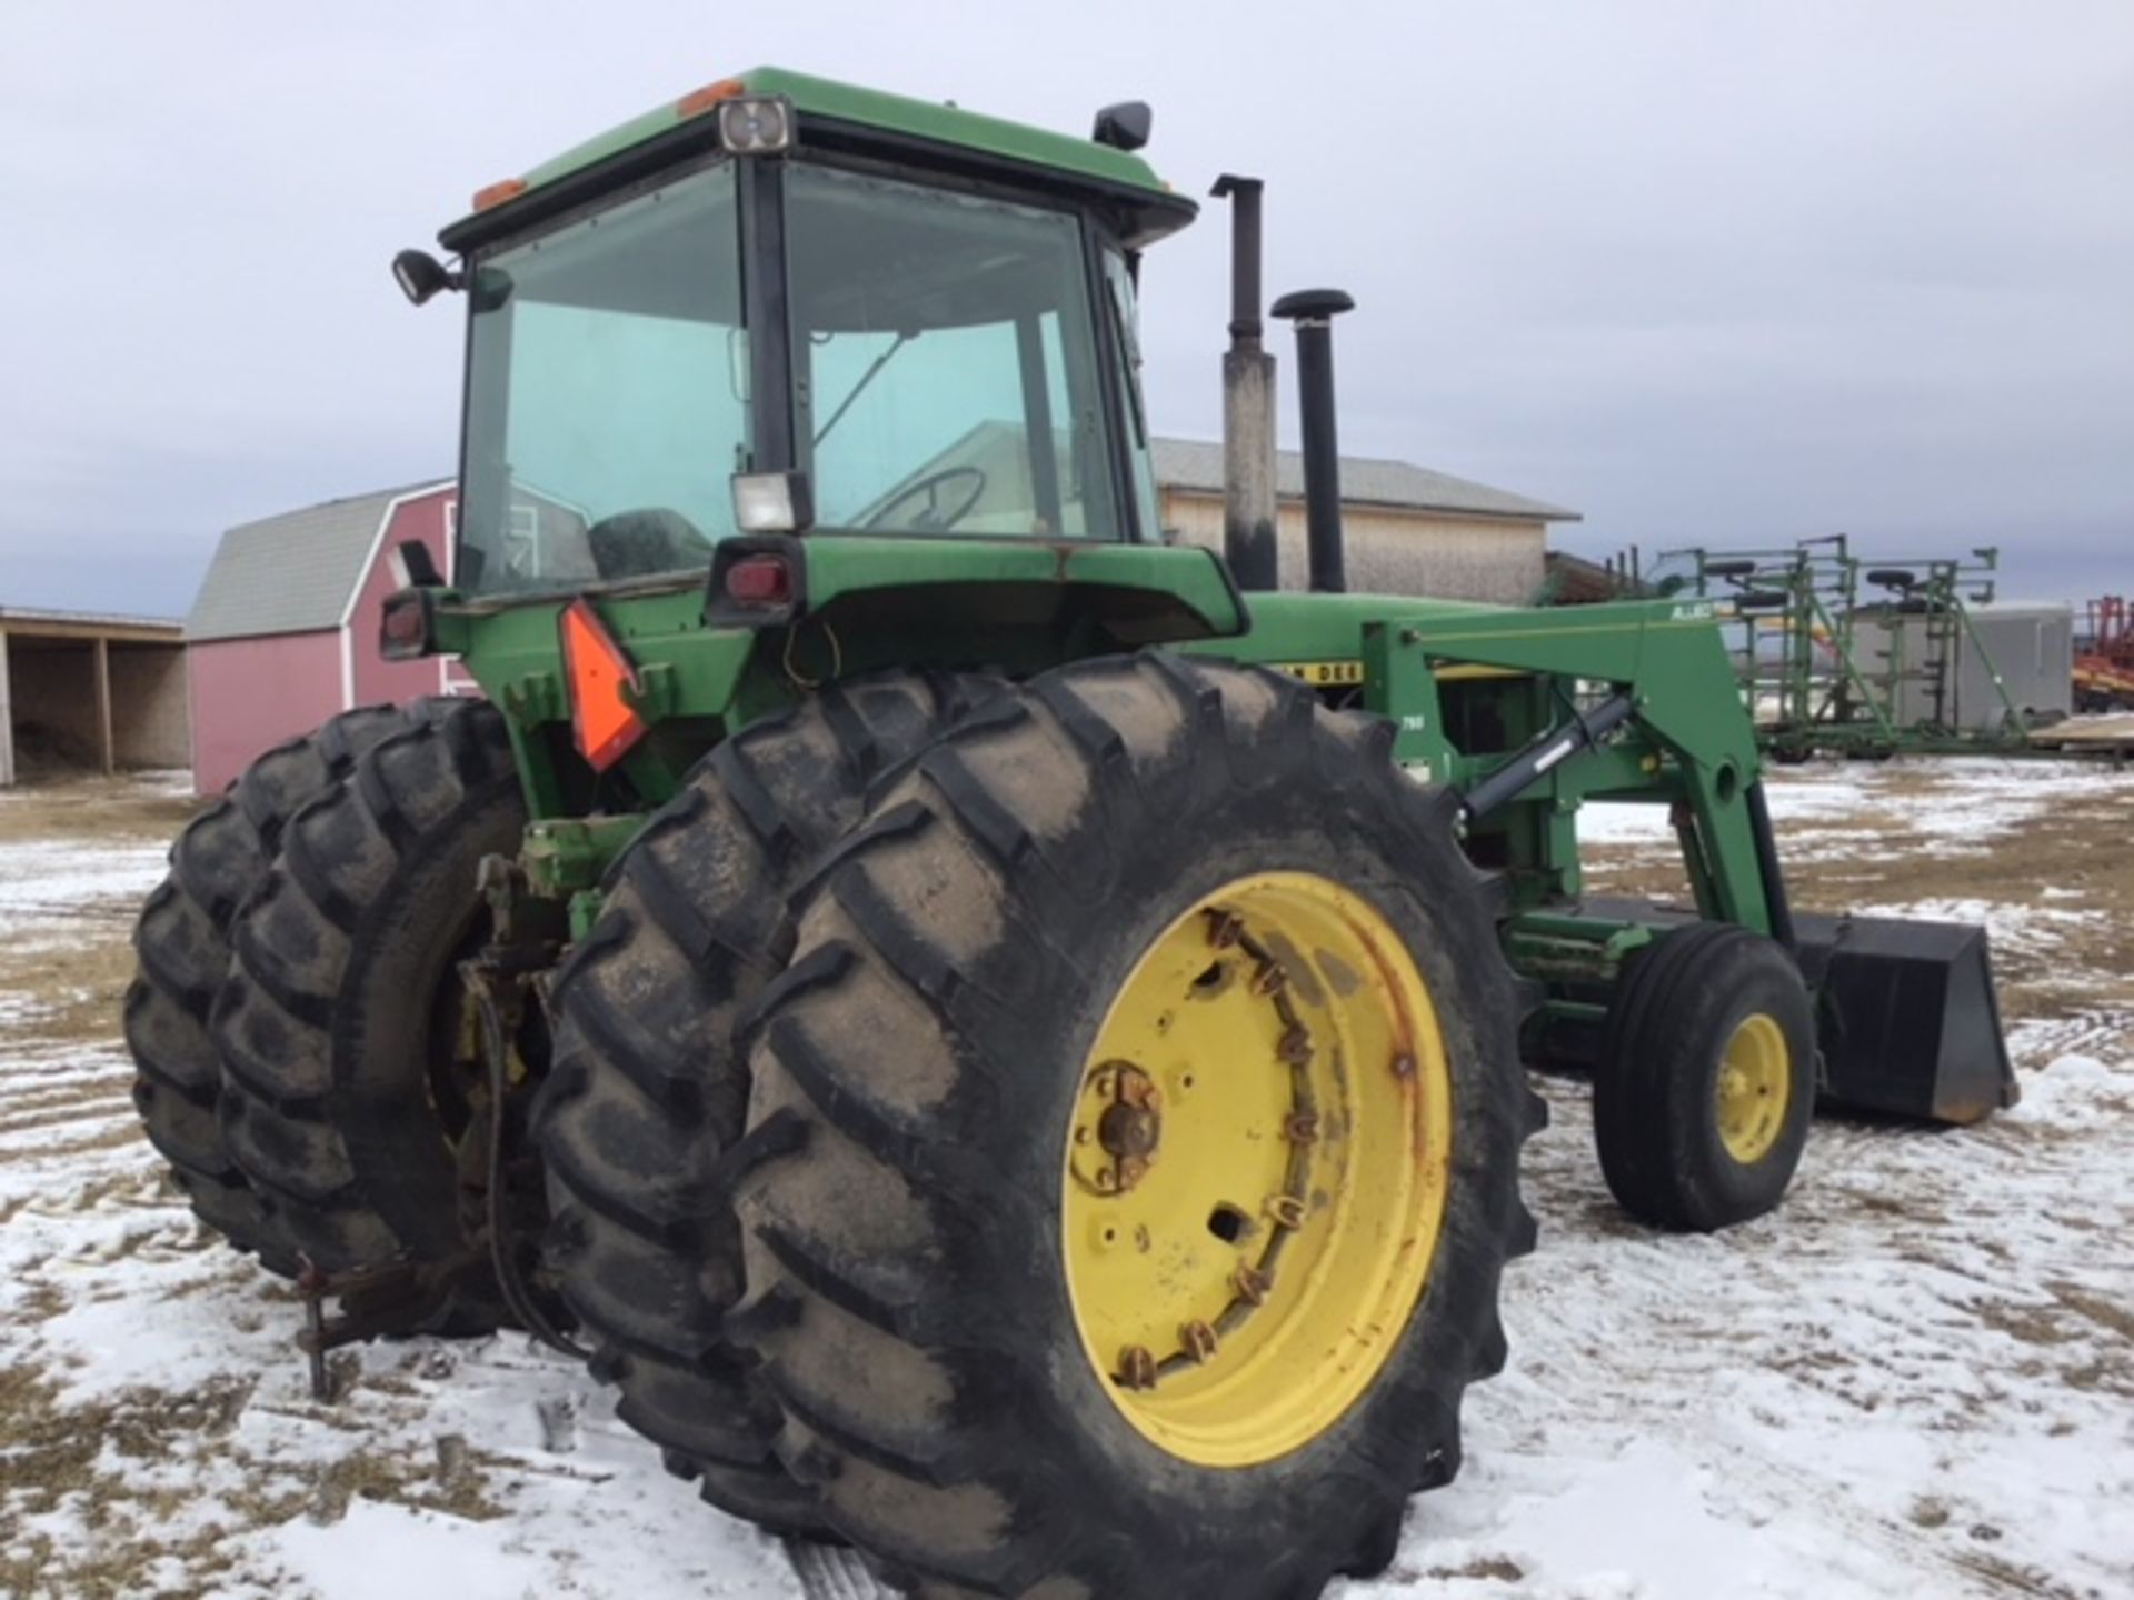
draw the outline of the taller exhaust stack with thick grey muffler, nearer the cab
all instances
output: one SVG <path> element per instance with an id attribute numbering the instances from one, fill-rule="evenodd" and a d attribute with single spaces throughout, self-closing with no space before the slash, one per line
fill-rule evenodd
<path id="1" fill-rule="evenodd" d="M 1259 341 L 1257 177 L 1225 173 L 1229 201 L 1229 350 L 1223 352 L 1223 559 L 1240 589 L 1276 589 L 1274 356 Z"/>

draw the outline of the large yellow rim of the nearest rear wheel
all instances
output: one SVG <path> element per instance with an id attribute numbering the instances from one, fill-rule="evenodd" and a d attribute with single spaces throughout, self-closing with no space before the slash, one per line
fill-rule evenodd
<path id="1" fill-rule="evenodd" d="M 1063 1175 L 1076 1325 L 1118 1410 L 1212 1468 L 1334 1427 L 1408 1327 L 1445 1220 L 1451 1069 L 1391 924 L 1236 879 L 1112 1001 Z"/>

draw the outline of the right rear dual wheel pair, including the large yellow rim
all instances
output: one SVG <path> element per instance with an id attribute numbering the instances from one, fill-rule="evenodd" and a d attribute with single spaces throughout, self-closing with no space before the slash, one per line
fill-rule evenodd
<path id="1" fill-rule="evenodd" d="M 883 738 L 911 693 L 721 747 L 555 986 L 553 1261 L 623 1417 L 941 1600 L 1376 1570 L 1532 1244 L 1451 802 L 1251 668 L 1093 661 Z"/>

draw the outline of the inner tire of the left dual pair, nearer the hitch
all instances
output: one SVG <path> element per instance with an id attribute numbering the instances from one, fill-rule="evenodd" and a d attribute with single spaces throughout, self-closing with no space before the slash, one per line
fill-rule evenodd
<path id="1" fill-rule="evenodd" d="M 216 1001 L 222 1135 L 292 1252 L 329 1274 L 474 1259 L 461 1146 L 478 1035 L 457 962 L 487 934 L 484 855 L 516 855 L 525 804 L 501 713 L 425 700 L 282 830 Z M 540 1043 L 521 1041 L 538 1071 Z M 476 1267 L 395 1331 L 501 1316 Z"/>

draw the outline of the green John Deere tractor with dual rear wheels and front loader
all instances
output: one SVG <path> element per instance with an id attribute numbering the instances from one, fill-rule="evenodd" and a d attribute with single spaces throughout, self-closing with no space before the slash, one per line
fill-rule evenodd
<path id="1" fill-rule="evenodd" d="M 1778 1205 L 1812 1107 L 2012 1097 L 1985 934 L 1795 915 L 1711 602 L 1342 593 L 1336 292 L 1257 183 L 1227 559 L 1157 525 L 1093 139 L 760 70 L 403 252 L 469 309 L 450 574 L 177 841 L 126 1003 L 198 1216 L 348 1340 L 583 1353 L 708 1502 L 911 1594 L 1315 1596 L 1504 1363 L 1526 1067 L 1622 1205 Z M 1581 894 L 1671 806 L 1694 911 Z"/>

